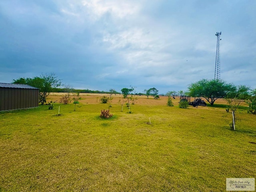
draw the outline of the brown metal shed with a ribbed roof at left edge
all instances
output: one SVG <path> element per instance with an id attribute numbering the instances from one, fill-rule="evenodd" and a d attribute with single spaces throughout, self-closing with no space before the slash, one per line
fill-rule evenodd
<path id="1" fill-rule="evenodd" d="M 0 111 L 38 107 L 39 89 L 24 85 L 0 83 Z"/>

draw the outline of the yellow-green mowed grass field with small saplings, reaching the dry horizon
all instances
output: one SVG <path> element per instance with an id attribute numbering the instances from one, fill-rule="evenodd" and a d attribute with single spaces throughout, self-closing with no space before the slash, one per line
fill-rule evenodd
<path id="1" fill-rule="evenodd" d="M 166 97 L 138 96 L 130 114 L 121 95 L 109 107 L 103 94 L 80 94 L 76 111 L 61 95 L 49 96 L 53 110 L 0 113 L 0 191 L 223 192 L 226 178 L 256 177 L 256 116 L 246 104 L 234 131 L 225 100 L 182 109 L 178 98 L 168 107 Z M 103 109 L 114 116 L 99 118 Z"/>

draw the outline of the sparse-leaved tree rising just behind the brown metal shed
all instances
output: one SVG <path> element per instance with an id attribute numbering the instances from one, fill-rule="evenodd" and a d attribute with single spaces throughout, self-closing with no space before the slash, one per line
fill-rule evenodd
<path id="1" fill-rule="evenodd" d="M 12 83 L 28 84 L 30 86 L 39 88 L 39 102 L 42 105 L 46 102 L 46 98 L 50 92 L 52 92 L 53 88 L 57 88 L 62 85 L 61 80 L 58 79 L 54 73 L 42 74 L 40 77 L 34 78 L 19 78 L 17 80 L 13 80 Z"/>

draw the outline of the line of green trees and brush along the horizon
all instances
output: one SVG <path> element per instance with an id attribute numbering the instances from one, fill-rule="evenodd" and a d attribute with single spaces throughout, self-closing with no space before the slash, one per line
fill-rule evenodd
<path id="1" fill-rule="evenodd" d="M 131 95 L 146 95 L 147 97 L 153 96 L 154 99 L 158 99 L 158 90 L 156 88 L 145 89 L 144 93 L 135 93 L 134 87 L 130 88 L 122 88 L 121 92 L 117 92 L 114 89 L 110 89 L 108 91 L 93 91 L 93 90 L 80 90 L 74 89 L 70 85 L 63 85 L 61 80 L 57 78 L 54 73 L 50 74 L 42 74 L 41 76 L 36 76 L 34 78 L 18 78 L 13 80 L 14 84 L 28 84 L 30 86 L 34 86 L 40 89 L 39 94 L 39 102 L 44 104 L 46 102 L 47 96 L 50 92 L 80 92 L 80 93 L 104 93 L 110 94 L 110 98 L 112 94 L 121 94 L 124 98 L 127 98 L 129 94 Z M 60 88 L 63 86 L 63 88 Z M 256 110 L 256 89 L 252 89 L 246 85 L 235 86 L 232 83 L 227 83 L 223 80 L 208 80 L 202 79 L 198 82 L 191 83 L 188 86 L 188 91 L 169 91 L 166 93 L 167 96 L 172 98 L 176 98 L 176 96 L 180 95 L 188 95 L 192 97 L 203 97 L 205 98 L 210 105 L 213 105 L 214 102 L 219 98 L 236 98 L 240 100 L 248 100 L 248 102 L 252 103 L 252 110 Z"/>

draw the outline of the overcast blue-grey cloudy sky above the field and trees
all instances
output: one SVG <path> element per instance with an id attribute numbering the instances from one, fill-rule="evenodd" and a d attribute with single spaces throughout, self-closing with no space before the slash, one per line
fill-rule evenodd
<path id="1" fill-rule="evenodd" d="M 255 0 L 1 0 L 0 82 L 54 72 L 74 88 L 256 88 Z"/>

